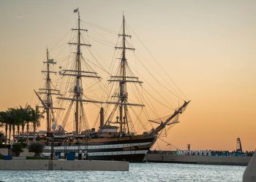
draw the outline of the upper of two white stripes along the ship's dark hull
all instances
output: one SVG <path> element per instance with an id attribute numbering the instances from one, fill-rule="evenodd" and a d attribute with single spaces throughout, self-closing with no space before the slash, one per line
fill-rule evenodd
<path id="1" fill-rule="evenodd" d="M 90 150 L 90 149 L 116 149 L 116 148 L 124 148 L 130 146 L 145 146 L 150 144 L 151 142 L 144 142 L 144 143 L 125 143 L 125 144 L 113 144 L 113 145 L 99 145 L 99 146 L 67 146 L 67 150 Z M 50 150 L 51 146 L 45 146 L 45 150 Z M 64 150 L 64 146 L 54 146 L 54 150 Z"/>

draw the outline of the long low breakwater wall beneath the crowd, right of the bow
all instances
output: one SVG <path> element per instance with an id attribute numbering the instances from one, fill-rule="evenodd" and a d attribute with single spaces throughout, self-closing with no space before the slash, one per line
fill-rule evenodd
<path id="1" fill-rule="evenodd" d="M 173 162 L 202 165 L 248 165 L 251 157 L 186 156 L 175 154 L 148 154 L 148 162 Z"/>

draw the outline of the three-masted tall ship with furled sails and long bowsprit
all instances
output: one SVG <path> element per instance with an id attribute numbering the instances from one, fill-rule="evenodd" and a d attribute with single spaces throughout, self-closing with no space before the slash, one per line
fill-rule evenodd
<path id="1" fill-rule="evenodd" d="M 170 113 L 165 120 L 160 122 L 148 119 L 147 122 L 154 122 L 157 127 L 146 130 L 140 134 L 135 131 L 135 121 L 132 121 L 130 111 L 135 107 L 144 108 L 146 102 L 135 103 L 129 100 L 129 84 L 139 84 L 138 76 L 132 73 L 127 59 L 127 51 L 134 51 L 130 44 L 127 44 L 127 39 L 131 36 L 126 32 L 125 17 L 123 15 L 121 33 L 118 33 L 118 44 L 116 50 L 119 52 L 118 66 L 115 74 L 110 74 L 108 84 L 111 84 L 109 90 L 105 90 L 105 95 L 109 97 L 102 100 L 91 99 L 86 95 L 87 84 L 84 84 L 87 79 L 89 82 L 100 82 L 101 76 L 94 71 L 87 63 L 86 58 L 82 55 L 82 47 L 91 47 L 91 44 L 82 41 L 83 32 L 86 29 L 80 27 L 80 12 L 78 13 L 78 25 L 72 28 L 76 32 L 76 41 L 69 42 L 71 47 L 75 47 L 74 60 L 70 62 L 69 67 L 61 68 L 59 74 L 61 78 L 66 77 L 68 82 L 64 82 L 65 91 L 57 90 L 50 86 L 50 74 L 56 74 L 55 71 L 50 71 L 50 64 L 54 64 L 54 60 L 48 58 L 45 61 L 45 87 L 35 91 L 41 106 L 46 112 L 47 119 L 47 135 L 39 140 L 45 144 L 43 155 L 53 157 L 58 154 L 59 157 L 66 158 L 67 154 L 73 153 L 80 159 L 92 160 L 124 160 L 129 162 L 143 162 L 146 158 L 148 150 L 156 143 L 159 135 L 165 127 L 176 124 L 177 117 L 186 109 L 189 101 L 184 100 L 184 103 L 178 108 L 170 110 Z M 83 81 L 83 82 L 82 82 Z M 136 86 L 135 86 L 136 87 Z M 53 104 L 53 95 L 60 103 L 66 102 L 67 108 L 63 110 L 61 106 Z M 100 98 L 100 97 L 99 97 Z M 108 99 L 107 99 L 108 98 Z M 85 106 L 89 104 L 96 105 L 99 108 L 98 128 L 89 129 L 87 116 L 90 114 L 86 111 Z M 61 123 L 58 125 L 54 111 L 62 111 L 64 115 Z M 67 121 L 69 115 L 73 111 L 73 131 L 67 132 Z M 138 115 L 140 120 L 140 115 Z"/>

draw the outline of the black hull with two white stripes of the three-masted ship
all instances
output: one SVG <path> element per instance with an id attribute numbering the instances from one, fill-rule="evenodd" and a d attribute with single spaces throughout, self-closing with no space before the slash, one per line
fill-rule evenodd
<path id="1" fill-rule="evenodd" d="M 53 155 L 59 158 L 66 158 L 73 152 L 76 158 L 80 156 L 81 159 L 143 162 L 155 139 L 148 136 L 87 139 L 80 143 L 54 142 L 47 143 L 42 154 L 50 157 L 53 144 Z"/>

